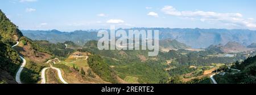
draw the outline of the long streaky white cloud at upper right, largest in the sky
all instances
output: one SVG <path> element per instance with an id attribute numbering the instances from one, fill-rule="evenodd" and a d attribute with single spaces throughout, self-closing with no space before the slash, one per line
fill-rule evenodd
<path id="1" fill-rule="evenodd" d="M 218 13 L 212 11 L 178 11 L 172 6 L 164 6 L 161 10 L 164 14 L 179 16 L 182 18 L 199 19 L 200 21 L 218 22 L 236 27 L 256 28 L 254 19 L 243 18 L 240 13 Z"/>

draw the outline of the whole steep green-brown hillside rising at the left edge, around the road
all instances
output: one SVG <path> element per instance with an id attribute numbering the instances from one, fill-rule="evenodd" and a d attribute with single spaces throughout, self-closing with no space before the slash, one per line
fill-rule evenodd
<path id="1" fill-rule="evenodd" d="M 44 61 L 51 58 L 49 51 L 38 46 L 34 41 L 19 31 L 18 27 L 6 18 L 0 11 L 0 38 L 1 38 L 1 80 L 6 83 L 14 83 L 14 75 L 22 63 L 19 54 L 26 59 L 26 66 L 20 73 L 22 83 L 36 83 L 39 80 L 39 72 L 45 66 Z M 19 45 L 11 48 L 19 41 Z M 19 53 L 19 54 L 18 54 Z M 10 75 L 6 75 L 8 72 Z M 2 75 L 3 74 L 3 75 Z M 6 78 L 8 77 L 8 78 Z"/>

